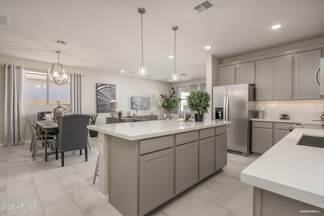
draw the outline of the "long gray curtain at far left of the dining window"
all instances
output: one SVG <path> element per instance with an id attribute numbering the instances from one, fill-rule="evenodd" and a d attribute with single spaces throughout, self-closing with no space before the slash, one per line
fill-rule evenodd
<path id="1" fill-rule="evenodd" d="M 5 66 L 4 145 L 25 142 L 26 70 L 15 65 Z"/>

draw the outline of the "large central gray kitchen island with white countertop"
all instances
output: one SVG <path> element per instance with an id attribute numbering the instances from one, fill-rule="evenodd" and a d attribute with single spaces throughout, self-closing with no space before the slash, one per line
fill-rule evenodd
<path id="1" fill-rule="evenodd" d="M 144 215 L 227 164 L 229 121 L 88 125 L 99 132 L 99 199 Z"/>

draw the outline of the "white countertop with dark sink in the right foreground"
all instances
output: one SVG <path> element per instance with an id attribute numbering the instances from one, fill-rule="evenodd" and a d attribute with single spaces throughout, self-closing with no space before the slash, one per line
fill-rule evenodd
<path id="1" fill-rule="evenodd" d="M 324 130 L 294 129 L 244 169 L 241 181 L 324 208 L 324 148 L 296 145 L 302 135 L 324 137 Z"/>

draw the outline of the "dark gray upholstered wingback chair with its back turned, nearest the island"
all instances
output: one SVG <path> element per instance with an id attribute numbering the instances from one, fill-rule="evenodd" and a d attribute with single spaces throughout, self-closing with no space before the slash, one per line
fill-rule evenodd
<path id="1" fill-rule="evenodd" d="M 88 161 L 88 133 L 87 125 L 90 122 L 90 115 L 72 114 L 59 116 L 57 124 L 59 126 L 59 136 L 55 140 L 56 159 L 58 150 L 61 151 L 62 166 L 64 166 L 64 152 L 85 149 L 86 161 Z"/>

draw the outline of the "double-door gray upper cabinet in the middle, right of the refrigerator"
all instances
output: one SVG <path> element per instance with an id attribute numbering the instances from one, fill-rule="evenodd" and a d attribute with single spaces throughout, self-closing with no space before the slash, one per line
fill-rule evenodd
<path id="1" fill-rule="evenodd" d="M 257 100 L 292 99 L 292 55 L 256 62 Z"/>

